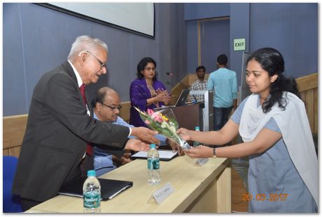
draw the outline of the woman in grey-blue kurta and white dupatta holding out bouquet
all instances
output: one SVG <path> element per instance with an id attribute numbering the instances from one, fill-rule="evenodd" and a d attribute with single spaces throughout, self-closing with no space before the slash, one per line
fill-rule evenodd
<path id="1" fill-rule="evenodd" d="M 238 133 L 243 143 L 185 150 L 191 158 L 249 156 L 248 211 L 317 212 L 318 161 L 304 103 L 295 80 L 282 75 L 284 61 L 272 48 L 251 54 L 246 82 L 251 92 L 220 131 L 181 128 L 184 140 L 226 144 Z M 242 198 L 241 198 L 242 199 Z"/>

